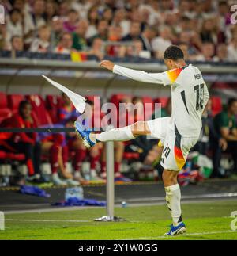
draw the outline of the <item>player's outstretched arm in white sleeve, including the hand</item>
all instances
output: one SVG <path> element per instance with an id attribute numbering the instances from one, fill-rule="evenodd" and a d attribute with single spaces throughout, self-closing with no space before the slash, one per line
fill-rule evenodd
<path id="1" fill-rule="evenodd" d="M 126 76 L 127 78 L 134 79 L 139 82 L 151 82 L 157 84 L 164 84 L 167 75 L 164 73 L 147 73 L 145 71 L 136 71 L 127 67 L 121 67 L 115 65 L 110 60 L 103 60 L 100 63 L 100 67 L 107 68 L 107 70 L 114 72 L 115 74 Z"/>

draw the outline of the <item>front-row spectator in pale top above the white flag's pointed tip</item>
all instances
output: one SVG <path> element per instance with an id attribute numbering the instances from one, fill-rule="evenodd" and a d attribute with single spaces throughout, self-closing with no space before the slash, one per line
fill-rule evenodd
<path id="1" fill-rule="evenodd" d="M 48 52 L 51 46 L 51 29 L 43 25 L 39 29 L 39 37 L 32 41 L 31 52 Z"/>

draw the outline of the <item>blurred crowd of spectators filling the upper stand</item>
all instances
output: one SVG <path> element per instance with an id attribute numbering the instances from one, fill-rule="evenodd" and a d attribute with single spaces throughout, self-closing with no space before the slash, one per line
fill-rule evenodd
<path id="1" fill-rule="evenodd" d="M 0 49 L 23 57 L 39 52 L 82 60 L 104 55 L 162 59 L 167 46 L 179 44 L 191 61 L 235 62 L 234 2 L 2 0 L 7 16 L 0 25 Z"/>

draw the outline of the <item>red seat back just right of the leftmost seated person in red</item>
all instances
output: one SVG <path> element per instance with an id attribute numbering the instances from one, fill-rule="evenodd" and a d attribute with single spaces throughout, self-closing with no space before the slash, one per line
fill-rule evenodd
<path id="1" fill-rule="evenodd" d="M 26 98 L 32 104 L 32 117 L 36 120 L 36 125 L 53 124 L 50 114 L 45 108 L 43 98 L 40 95 L 27 95 Z"/>

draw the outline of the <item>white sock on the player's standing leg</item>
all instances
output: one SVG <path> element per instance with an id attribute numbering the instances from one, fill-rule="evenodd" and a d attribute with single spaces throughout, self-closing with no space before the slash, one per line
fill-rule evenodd
<path id="1" fill-rule="evenodd" d="M 179 184 L 171 185 L 165 187 L 166 197 L 165 200 L 167 202 L 167 207 L 171 212 L 171 216 L 173 219 L 173 224 L 177 225 L 179 222 L 182 221 L 182 214 L 181 214 L 181 193 Z"/>

